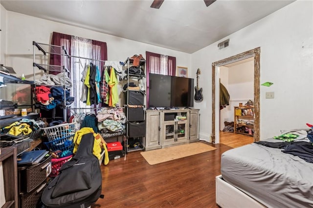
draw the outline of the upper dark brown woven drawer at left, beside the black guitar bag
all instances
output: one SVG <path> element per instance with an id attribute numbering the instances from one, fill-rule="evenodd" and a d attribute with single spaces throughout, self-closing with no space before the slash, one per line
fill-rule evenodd
<path id="1" fill-rule="evenodd" d="M 51 156 L 43 162 L 18 168 L 19 192 L 30 192 L 37 188 L 51 173 Z"/>

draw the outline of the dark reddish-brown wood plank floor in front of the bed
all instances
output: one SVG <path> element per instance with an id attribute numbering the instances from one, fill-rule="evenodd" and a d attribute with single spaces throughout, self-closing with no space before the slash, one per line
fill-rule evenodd
<path id="1" fill-rule="evenodd" d="M 135 151 L 101 165 L 105 198 L 92 208 L 218 208 L 215 176 L 221 154 L 232 148 L 203 143 L 217 149 L 153 166 Z"/>

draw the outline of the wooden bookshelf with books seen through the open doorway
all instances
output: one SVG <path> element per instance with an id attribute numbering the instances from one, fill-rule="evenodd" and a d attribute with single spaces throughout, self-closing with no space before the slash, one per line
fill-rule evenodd
<path id="1" fill-rule="evenodd" d="M 254 135 L 254 107 L 234 107 L 234 133 Z"/>

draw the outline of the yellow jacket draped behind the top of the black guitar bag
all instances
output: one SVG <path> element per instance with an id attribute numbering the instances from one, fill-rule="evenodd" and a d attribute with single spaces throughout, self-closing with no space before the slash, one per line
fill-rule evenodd
<path id="1" fill-rule="evenodd" d="M 80 141 L 83 137 L 84 134 L 86 133 L 93 133 L 94 136 L 94 143 L 93 143 L 93 154 L 100 159 L 101 158 L 101 135 L 99 133 L 95 133 L 93 131 L 92 128 L 89 127 L 83 127 L 81 128 L 79 131 L 75 132 L 74 135 L 74 139 L 73 139 L 73 143 L 74 143 L 74 150 L 73 150 L 73 154 L 76 153 L 76 151 L 78 150 L 78 146 L 80 144 Z M 106 145 L 103 145 L 104 147 L 104 151 L 105 151 L 105 155 L 104 155 L 104 165 L 107 165 L 109 163 L 109 153 L 107 150 Z"/>

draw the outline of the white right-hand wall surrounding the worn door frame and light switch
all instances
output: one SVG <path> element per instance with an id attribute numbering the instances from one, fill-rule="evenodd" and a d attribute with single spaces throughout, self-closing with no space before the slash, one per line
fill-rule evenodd
<path id="1" fill-rule="evenodd" d="M 313 122 L 313 1 L 295 1 L 246 28 L 192 54 L 191 70 L 201 68 L 203 88 L 200 137 L 210 141 L 212 132 L 211 63 L 260 47 L 260 138 L 280 130 L 306 128 Z M 217 43 L 229 38 L 229 47 Z M 192 73 L 192 72 L 191 72 Z M 194 74 L 194 73 L 192 73 Z M 274 92 L 274 99 L 265 99 Z"/>

